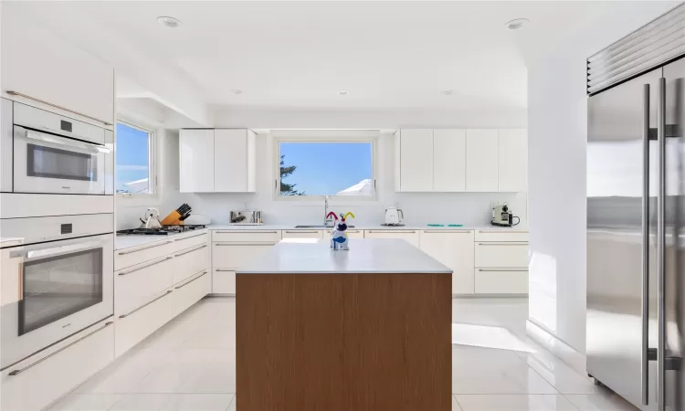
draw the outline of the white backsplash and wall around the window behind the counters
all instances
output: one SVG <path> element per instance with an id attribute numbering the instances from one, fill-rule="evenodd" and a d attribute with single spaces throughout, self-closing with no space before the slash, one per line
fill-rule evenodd
<path id="1" fill-rule="evenodd" d="M 264 212 L 266 224 L 321 224 L 323 200 L 283 201 L 273 196 L 273 173 L 269 139 L 257 137 L 257 193 L 179 193 L 178 191 L 178 133 L 158 132 L 158 150 L 161 164 L 162 198 L 150 205 L 127 205 L 125 199 L 117 202 L 117 229 L 138 227 L 147 206 L 156 206 L 162 216 L 187 203 L 193 214 L 208 216 L 214 223 L 228 223 L 230 210 L 244 208 Z M 490 204 L 506 202 L 515 216 L 521 217 L 521 226 L 528 225 L 527 195 L 525 193 L 395 193 L 394 145 L 392 136 L 381 136 L 378 143 L 375 201 L 332 202 L 331 209 L 338 213 L 352 211 L 353 224 L 377 225 L 384 222 L 386 205 L 398 205 L 404 211 L 407 225 L 463 224 L 485 226 L 490 223 Z"/>

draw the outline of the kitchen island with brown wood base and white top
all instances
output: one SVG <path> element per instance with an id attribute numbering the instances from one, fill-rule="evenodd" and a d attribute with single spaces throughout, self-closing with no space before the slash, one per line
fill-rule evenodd
<path id="1" fill-rule="evenodd" d="M 237 269 L 237 409 L 451 409 L 452 270 L 404 240 L 329 241 Z"/>

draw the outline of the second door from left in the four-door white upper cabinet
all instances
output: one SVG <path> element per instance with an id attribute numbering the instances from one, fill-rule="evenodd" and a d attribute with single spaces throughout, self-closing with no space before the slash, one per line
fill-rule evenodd
<path id="1" fill-rule="evenodd" d="M 466 190 L 466 130 L 433 131 L 433 190 Z"/>

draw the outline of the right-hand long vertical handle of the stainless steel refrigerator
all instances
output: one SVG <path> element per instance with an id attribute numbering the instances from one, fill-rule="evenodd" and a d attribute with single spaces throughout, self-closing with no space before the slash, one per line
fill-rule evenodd
<path id="1" fill-rule="evenodd" d="M 659 140 L 659 196 L 657 197 L 657 406 L 666 411 L 666 79 L 659 79 L 657 139 Z"/>

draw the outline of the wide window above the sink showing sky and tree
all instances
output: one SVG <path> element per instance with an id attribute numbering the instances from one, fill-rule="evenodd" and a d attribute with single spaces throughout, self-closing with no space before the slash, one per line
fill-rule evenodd
<path id="1" fill-rule="evenodd" d="M 373 199 L 373 138 L 276 139 L 276 196 Z"/>

